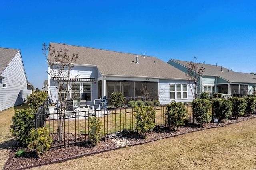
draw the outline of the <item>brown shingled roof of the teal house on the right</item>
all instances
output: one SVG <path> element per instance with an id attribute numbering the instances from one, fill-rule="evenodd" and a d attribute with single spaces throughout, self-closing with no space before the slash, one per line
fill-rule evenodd
<path id="1" fill-rule="evenodd" d="M 180 60 L 173 60 L 176 63 L 179 63 L 183 66 L 188 66 L 189 61 L 180 61 Z M 234 72 L 227 68 L 216 65 L 210 64 L 203 64 L 202 65 L 204 70 L 204 76 L 218 76 L 223 78 L 229 82 L 236 82 L 236 83 L 255 83 L 256 84 L 256 75 L 250 73 L 242 73 L 242 72 Z"/>

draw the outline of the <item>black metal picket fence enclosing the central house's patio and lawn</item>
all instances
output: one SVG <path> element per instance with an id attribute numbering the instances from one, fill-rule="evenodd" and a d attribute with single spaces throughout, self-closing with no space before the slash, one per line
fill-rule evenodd
<path id="1" fill-rule="evenodd" d="M 136 132 L 134 108 L 118 108 L 107 110 L 88 110 L 66 113 L 48 113 L 47 107 L 40 107 L 35 114 L 35 127 L 46 127 L 52 135 L 51 149 L 87 143 L 90 116 L 96 116 L 102 121 L 104 136 L 101 139 L 130 135 Z M 47 105 L 46 105 L 47 106 Z M 187 123 L 194 123 L 192 104 L 185 104 L 188 108 Z M 155 129 L 168 127 L 166 123 L 166 106 L 154 106 L 156 115 Z M 62 132 L 62 133 L 60 133 Z"/>

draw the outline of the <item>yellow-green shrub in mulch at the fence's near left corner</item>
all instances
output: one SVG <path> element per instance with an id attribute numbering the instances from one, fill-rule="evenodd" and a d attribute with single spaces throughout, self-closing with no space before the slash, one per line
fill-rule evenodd
<path id="1" fill-rule="evenodd" d="M 49 150 L 52 137 L 49 136 L 48 129 L 39 127 L 30 131 L 30 142 L 28 147 L 33 148 L 39 158 Z"/>

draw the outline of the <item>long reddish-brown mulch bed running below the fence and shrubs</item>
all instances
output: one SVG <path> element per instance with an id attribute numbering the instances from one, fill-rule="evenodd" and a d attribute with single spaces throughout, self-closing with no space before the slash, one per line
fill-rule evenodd
<path id="1" fill-rule="evenodd" d="M 238 117 L 237 120 L 228 119 L 218 123 L 206 123 L 204 125 L 204 128 L 198 127 L 198 125 L 184 125 L 179 127 L 177 132 L 171 131 L 169 129 L 160 129 L 160 130 L 152 131 L 148 133 L 147 139 L 141 139 L 138 134 L 133 134 L 126 137 L 126 141 L 128 141 L 130 145 L 138 145 L 140 143 L 146 143 L 146 142 L 154 141 L 157 139 L 163 139 L 166 137 L 181 135 L 181 134 L 192 132 L 192 131 L 198 131 L 198 130 L 212 128 L 212 127 L 221 127 L 230 123 L 237 123 L 237 122 L 254 118 L 254 117 L 256 117 L 256 114 L 252 114 L 250 116 Z M 33 152 L 33 150 L 29 148 L 19 147 L 17 151 L 23 149 L 26 151 L 26 155 L 23 157 L 15 158 L 14 157 L 15 152 L 13 152 L 12 155 L 10 156 L 10 159 L 6 163 L 4 170 L 28 168 L 29 166 L 35 166 L 38 164 L 48 164 L 49 162 L 52 162 L 52 163 L 62 162 L 68 158 L 78 158 L 81 156 L 85 156 L 86 154 L 93 154 L 93 153 L 101 152 L 104 150 L 110 150 L 110 149 L 116 149 L 116 148 L 120 148 L 120 145 L 117 145 L 112 139 L 106 139 L 104 141 L 100 141 L 100 143 L 98 144 L 98 147 L 93 147 L 90 144 L 85 144 L 85 145 L 76 145 L 72 147 L 65 147 L 65 148 L 50 150 L 43 156 L 43 158 L 40 159 L 38 158 L 37 154 Z"/>

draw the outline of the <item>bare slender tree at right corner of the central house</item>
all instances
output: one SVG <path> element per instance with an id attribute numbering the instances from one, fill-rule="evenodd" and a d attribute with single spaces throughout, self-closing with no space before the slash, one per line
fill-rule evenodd
<path id="1" fill-rule="evenodd" d="M 186 67 L 186 76 L 188 77 L 188 86 L 190 87 L 190 90 L 192 92 L 193 98 L 196 99 L 200 95 L 200 92 L 202 91 L 202 87 L 197 87 L 198 81 L 200 81 L 200 78 L 204 74 L 204 67 L 203 64 L 196 63 L 196 56 L 194 57 L 195 62 L 190 61 L 188 63 L 188 66 Z"/>

